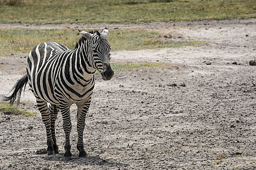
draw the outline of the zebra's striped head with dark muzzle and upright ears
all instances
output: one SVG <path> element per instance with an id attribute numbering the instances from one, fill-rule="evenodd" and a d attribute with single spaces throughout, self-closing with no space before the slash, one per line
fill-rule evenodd
<path id="1" fill-rule="evenodd" d="M 114 75 L 114 71 L 110 67 L 111 57 L 109 51 L 111 46 L 107 40 L 108 29 L 103 28 L 101 33 L 98 31 L 88 33 L 80 30 L 79 32 L 89 40 L 89 48 L 93 52 L 90 60 L 91 66 L 98 70 L 103 80 L 110 80 Z"/>

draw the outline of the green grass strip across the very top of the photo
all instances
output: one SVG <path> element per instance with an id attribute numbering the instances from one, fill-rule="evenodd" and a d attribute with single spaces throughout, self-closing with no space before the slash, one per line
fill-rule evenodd
<path id="1" fill-rule="evenodd" d="M 255 0 L 10 0 L 1 24 L 143 23 L 256 18 Z"/>

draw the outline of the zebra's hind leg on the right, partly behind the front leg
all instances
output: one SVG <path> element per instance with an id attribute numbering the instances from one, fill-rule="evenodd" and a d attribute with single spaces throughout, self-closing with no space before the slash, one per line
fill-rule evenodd
<path id="1" fill-rule="evenodd" d="M 53 148 L 54 153 L 59 154 L 59 147 L 57 145 L 57 140 L 55 136 L 55 120 L 57 119 L 59 112 L 59 105 L 50 104 L 49 105 L 49 113 L 51 115 L 51 132 L 52 132 L 52 138 L 53 138 Z"/>

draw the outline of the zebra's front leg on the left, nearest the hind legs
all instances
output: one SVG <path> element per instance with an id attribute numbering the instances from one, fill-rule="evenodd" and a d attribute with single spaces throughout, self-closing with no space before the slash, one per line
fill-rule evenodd
<path id="1" fill-rule="evenodd" d="M 71 146 L 70 146 L 70 132 L 72 129 L 72 124 L 70 120 L 70 104 L 59 101 L 59 109 L 62 115 L 62 121 L 63 121 L 63 130 L 65 133 L 65 154 L 64 154 L 64 160 L 70 160 L 71 159 Z"/>

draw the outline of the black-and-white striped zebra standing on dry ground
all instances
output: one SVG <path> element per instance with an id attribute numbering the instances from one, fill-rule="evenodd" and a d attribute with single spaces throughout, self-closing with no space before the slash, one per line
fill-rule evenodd
<path id="1" fill-rule="evenodd" d="M 108 29 L 103 28 L 101 33 L 97 30 L 91 32 L 79 30 L 79 33 L 81 38 L 74 50 L 69 50 L 56 42 L 44 42 L 30 51 L 26 63 L 27 74 L 13 86 L 12 95 L 4 98 L 5 101 L 13 104 L 18 97 L 19 103 L 22 88 L 28 82 L 45 124 L 48 155 L 59 153 L 55 120 L 60 110 L 65 133 L 65 160 L 70 160 L 72 156 L 70 106 L 72 104 L 78 106 L 77 149 L 79 157 L 86 157 L 83 131 L 94 89 L 95 72 L 98 70 L 103 80 L 110 80 L 114 75 L 110 66 L 111 46 L 107 40 Z"/>

